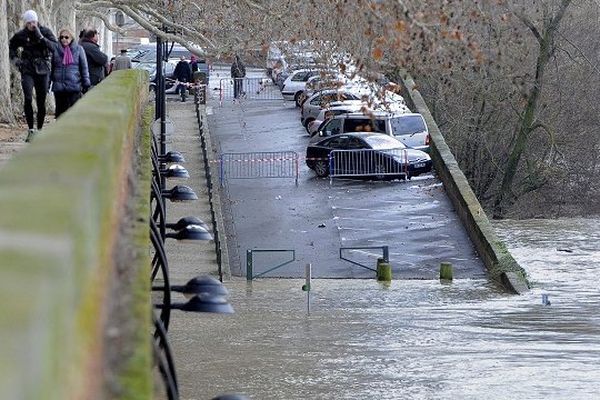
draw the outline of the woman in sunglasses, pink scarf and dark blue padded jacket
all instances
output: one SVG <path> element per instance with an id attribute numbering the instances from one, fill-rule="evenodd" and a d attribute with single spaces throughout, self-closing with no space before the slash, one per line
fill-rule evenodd
<path id="1" fill-rule="evenodd" d="M 73 40 L 68 29 L 61 29 L 52 55 L 52 91 L 56 100 L 58 118 L 90 87 L 87 58 L 83 47 Z"/>

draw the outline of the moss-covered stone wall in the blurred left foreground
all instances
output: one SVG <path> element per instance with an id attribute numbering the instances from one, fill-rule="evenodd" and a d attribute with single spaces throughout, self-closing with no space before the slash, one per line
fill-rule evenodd
<path id="1" fill-rule="evenodd" d="M 138 146 L 146 93 L 145 73 L 111 74 L 0 169 L 2 399 L 151 396 L 149 260 L 139 251 L 149 180 L 133 167 L 147 163 Z M 137 248 L 120 247 L 130 239 Z M 123 270 L 131 279 L 116 276 Z M 129 287 L 115 292 L 117 281 Z M 121 316 L 129 327 L 109 311 L 121 301 L 135 304 Z M 110 338 L 129 351 L 115 355 Z M 122 370 L 107 382 L 115 364 Z"/>

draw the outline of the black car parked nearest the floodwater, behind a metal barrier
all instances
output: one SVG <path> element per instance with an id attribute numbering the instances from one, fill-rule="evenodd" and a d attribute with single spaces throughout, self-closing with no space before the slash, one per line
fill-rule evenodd
<path id="1" fill-rule="evenodd" d="M 431 171 L 429 154 L 391 136 L 353 132 L 327 137 L 306 148 L 306 165 L 317 176 L 410 179 Z"/>

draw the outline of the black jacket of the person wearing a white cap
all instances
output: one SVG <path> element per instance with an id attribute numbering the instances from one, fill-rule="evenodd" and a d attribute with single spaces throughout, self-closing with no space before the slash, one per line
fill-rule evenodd
<path id="1" fill-rule="evenodd" d="M 22 74 L 43 74 L 44 66 L 47 67 L 46 74 L 50 73 L 51 46 L 52 43 L 57 43 L 57 40 L 52 31 L 45 26 L 40 26 L 40 32 L 45 40 L 38 39 L 36 32 L 27 28 L 21 29 L 10 38 L 9 56 Z M 19 48 L 23 49 L 21 57 L 19 57 Z"/>

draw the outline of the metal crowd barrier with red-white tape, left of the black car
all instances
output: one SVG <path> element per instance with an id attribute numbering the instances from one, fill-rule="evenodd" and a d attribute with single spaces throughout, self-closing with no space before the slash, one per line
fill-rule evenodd
<path id="1" fill-rule="evenodd" d="M 271 151 L 223 153 L 220 157 L 220 182 L 230 179 L 293 178 L 298 186 L 298 153 Z"/>

